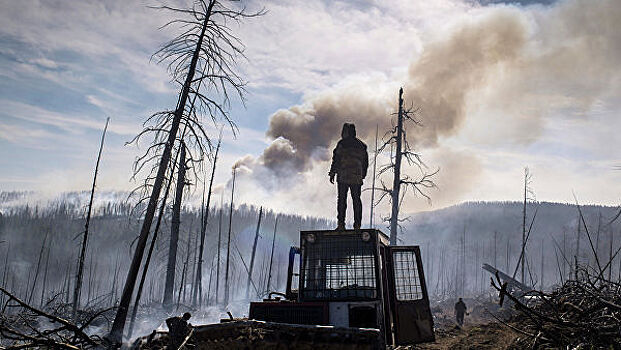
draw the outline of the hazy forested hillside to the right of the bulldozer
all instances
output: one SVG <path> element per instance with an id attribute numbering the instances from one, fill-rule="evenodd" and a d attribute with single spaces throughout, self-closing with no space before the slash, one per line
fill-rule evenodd
<path id="1" fill-rule="evenodd" d="M 475 295 L 489 291 L 487 263 L 513 276 L 522 244 L 522 202 L 468 202 L 414 214 L 404 224 L 403 242 L 421 246 L 430 294 L 438 297 Z M 621 225 L 611 220 L 618 207 L 527 203 L 525 282 L 549 289 L 571 278 L 576 262 L 597 269 L 614 257 L 605 275 L 621 277 Z M 533 217 L 535 216 L 533 221 Z M 588 235 L 587 235 L 588 231 Z M 592 241 L 593 248 L 591 248 Z M 519 270 L 515 274 L 520 279 Z"/>

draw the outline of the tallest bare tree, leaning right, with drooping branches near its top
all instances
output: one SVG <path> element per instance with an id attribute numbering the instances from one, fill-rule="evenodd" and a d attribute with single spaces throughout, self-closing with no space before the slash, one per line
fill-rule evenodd
<path id="1" fill-rule="evenodd" d="M 159 7 L 180 16 L 168 22 L 165 27 L 179 25 L 181 34 L 154 55 L 159 62 L 168 62 L 168 69 L 173 81 L 179 84 L 180 92 L 174 111 L 153 114 L 145 122 L 144 130 L 132 140 L 138 142 L 146 135 L 152 136 L 150 146 L 137 159 L 134 167 L 136 175 L 151 166 L 141 190 L 142 198 L 144 201 L 148 198 L 148 204 L 117 314 L 108 335 L 112 344 L 122 340 L 129 303 L 180 125 L 188 129 L 184 142 L 188 147 L 189 162 L 198 165 L 211 150 L 210 139 L 203 128 L 203 116 L 214 122 L 224 119 L 235 131 L 235 125 L 228 113 L 229 92 L 234 92 L 243 101 L 244 81 L 236 72 L 235 62 L 237 58 L 244 57 L 244 47 L 232 33 L 229 23 L 261 15 L 263 11 L 249 13 L 245 8 L 238 8 L 234 2 L 231 6 L 228 3 L 220 0 L 197 0 L 193 8 L 189 9 Z M 188 105 L 191 95 L 196 97 L 196 105 Z M 195 173 L 196 171 L 194 170 Z"/>

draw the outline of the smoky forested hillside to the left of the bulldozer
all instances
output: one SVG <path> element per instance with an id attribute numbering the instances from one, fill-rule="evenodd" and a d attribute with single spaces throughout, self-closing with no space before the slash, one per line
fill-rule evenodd
<path id="1" fill-rule="evenodd" d="M 6 197 L 4 197 L 6 198 Z M 73 197 L 75 199 L 77 197 Z M 218 302 L 224 293 L 224 270 L 229 231 L 229 205 L 210 208 L 203 258 L 203 303 L 216 303 L 218 236 L 220 235 L 220 282 Z M 141 208 L 125 202 L 100 202 L 91 218 L 81 305 L 115 305 L 121 293 L 134 242 L 140 229 Z M 79 200 L 50 205 L 4 206 L 0 216 L 0 276 L 2 285 L 16 295 L 45 303 L 55 297 L 71 302 L 75 284 L 80 237 L 84 230 L 84 207 Z M 230 300 L 245 297 L 247 266 L 255 237 L 259 208 L 242 204 L 233 210 L 230 247 Z M 276 224 L 278 218 L 278 224 Z M 164 215 L 152 266 L 148 271 L 142 304 L 161 303 L 170 237 L 170 210 Z M 179 251 L 176 263 L 174 300 L 189 304 L 192 298 L 200 242 L 199 208 L 181 212 Z M 250 297 L 283 291 L 289 247 L 298 245 L 299 231 L 326 229 L 333 223 L 320 218 L 278 214 L 263 210 Z M 271 283 L 267 286 L 274 230 Z"/>

